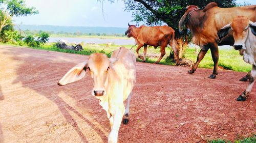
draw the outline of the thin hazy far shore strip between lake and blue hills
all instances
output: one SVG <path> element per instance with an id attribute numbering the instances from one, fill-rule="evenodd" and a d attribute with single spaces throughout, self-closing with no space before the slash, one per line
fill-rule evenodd
<path id="1" fill-rule="evenodd" d="M 19 30 L 18 30 L 19 31 Z M 59 35 L 59 36 L 116 36 L 116 37 L 125 37 L 124 34 L 107 34 L 107 33 L 81 33 L 81 32 L 54 32 L 54 31 L 37 31 L 37 30 L 25 30 L 22 31 L 22 34 L 25 33 L 26 35 L 36 35 L 42 32 L 46 32 L 50 35 Z"/>

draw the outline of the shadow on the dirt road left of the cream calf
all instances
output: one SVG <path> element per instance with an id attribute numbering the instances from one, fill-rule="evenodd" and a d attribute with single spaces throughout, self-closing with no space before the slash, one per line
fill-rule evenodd
<path id="1" fill-rule="evenodd" d="M 6 54 L 15 55 L 13 52 Z M 88 98 L 90 91 L 82 88 L 86 86 L 86 83 L 82 83 L 82 85 L 78 85 L 76 83 L 67 85 L 66 87 L 60 87 L 57 85 L 57 81 L 65 74 L 65 72 L 67 72 L 69 68 L 74 66 L 74 64 L 63 62 L 61 60 L 58 61 L 56 59 L 49 60 L 49 58 L 47 59 L 48 61 L 44 61 L 46 59 L 42 60 L 41 58 L 42 57 L 37 56 L 25 57 L 15 55 L 13 59 L 16 61 L 23 61 L 23 64 L 20 64 L 16 69 L 17 78 L 13 81 L 13 84 L 22 82 L 22 86 L 24 88 L 29 88 L 39 95 L 45 96 L 46 98 L 53 101 L 58 106 L 62 116 L 72 125 L 83 142 L 88 142 L 87 135 L 82 133 L 81 129 L 77 125 L 76 120 L 70 114 L 70 111 L 75 113 L 80 119 L 86 122 L 95 132 L 97 132 L 102 141 L 106 142 L 108 138 L 99 127 L 97 127 L 88 118 L 84 117 L 79 111 L 77 111 L 74 107 L 72 107 L 58 96 L 59 93 L 65 93 L 75 99 L 78 106 L 86 106 L 86 108 L 89 108 L 90 110 L 99 108 L 94 107 L 91 104 L 92 101 L 89 99 L 92 99 L 92 97 Z M 89 80 L 89 78 L 86 80 Z M 87 83 L 91 84 L 91 82 Z M 78 86 L 74 87 L 74 85 Z M 84 98 L 84 96 L 86 96 L 86 98 Z M 92 114 L 96 116 L 97 119 L 102 119 L 101 115 L 98 115 L 99 113 L 93 112 Z"/>

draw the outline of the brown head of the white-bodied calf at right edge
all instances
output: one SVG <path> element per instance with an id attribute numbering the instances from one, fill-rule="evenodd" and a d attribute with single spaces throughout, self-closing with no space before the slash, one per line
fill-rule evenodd
<path id="1" fill-rule="evenodd" d="M 253 23 L 245 16 L 238 16 L 218 31 L 219 38 L 225 37 L 230 31 L 234 37 L 234 49 L 242 50 L 246 48 L 245 41 L 249 32 L 256 36 L 256 23 Z"/>

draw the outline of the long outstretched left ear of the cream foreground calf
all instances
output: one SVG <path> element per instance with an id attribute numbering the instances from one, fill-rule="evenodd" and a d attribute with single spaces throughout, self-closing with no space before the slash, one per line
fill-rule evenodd
<path id="1" fill-rule="evenodd" d="M 58 85 L 66 85 L 82 79 L 86 75 L 87 62 L 80 63 L 69 70 L 58 82 Z"/>

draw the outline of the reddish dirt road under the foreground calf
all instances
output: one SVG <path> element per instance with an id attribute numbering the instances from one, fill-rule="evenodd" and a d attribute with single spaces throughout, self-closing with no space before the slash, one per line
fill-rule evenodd
<path id="1" fill-rule="evenodd" d="M 220 55 L 221 56 L 221 55 Z M 106 113 L 91 95 L 92 82 L 57 81 L 88 56 L 0 46 L 0 142 L 107 142 Z M 256 85 L 235 99 L 246 73 L 137 63 L 131 116 L 119 142 L 206 142 L 247 137 L 256 130 Z"/>

